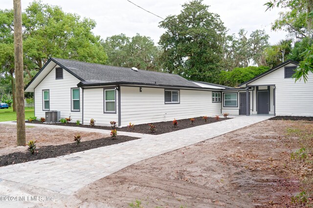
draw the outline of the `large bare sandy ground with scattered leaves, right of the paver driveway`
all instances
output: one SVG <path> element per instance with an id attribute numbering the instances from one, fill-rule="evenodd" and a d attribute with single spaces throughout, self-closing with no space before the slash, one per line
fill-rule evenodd
<path id="1" fill-rule="evenodd" d="M 299 192 L 288 171 L 297 138 L 292 126 L 313 128 L 312 121 L 267 120 L 177 151 L 162 154 L 80 189 L 77 206 L 144 208 L 290 207 Z"/>

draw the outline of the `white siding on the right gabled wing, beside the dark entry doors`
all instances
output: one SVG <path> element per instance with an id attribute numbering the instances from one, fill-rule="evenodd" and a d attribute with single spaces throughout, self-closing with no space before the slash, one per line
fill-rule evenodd
<path id="1" fill-rule="evenodd" d="M 288 64 L 292 66 L 294 64 Z M 313 115 L 313 74 L 309 73 L 308 82 L 285 78 L 284 67 L 263 76 L 248 85 L 275 84 L 276 115 Z M 271 95 L 272 95 L 271 87 Z M 271 97 L 271 112 L 273 108 Z"/>

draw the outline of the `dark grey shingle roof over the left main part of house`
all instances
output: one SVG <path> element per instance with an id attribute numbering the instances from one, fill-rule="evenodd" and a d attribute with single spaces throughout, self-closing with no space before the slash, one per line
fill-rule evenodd
<path id="1" fill-rule="evenodd" d="M 76 60 L 52 58 L 62 67 L 67 68 L 72 74 L 80 77 L 82 83 L 140 83 L 168 86 L 185 86 L 199 88 L 195 83 L 174 74 L 152 72 L 146 70 L 133 71 L 131 68 L 108 66 L 102 64 L 86 63 Z"/>

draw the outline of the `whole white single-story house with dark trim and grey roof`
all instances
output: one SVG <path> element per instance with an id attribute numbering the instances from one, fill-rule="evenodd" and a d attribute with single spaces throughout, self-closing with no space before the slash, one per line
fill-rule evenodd
<path id="1" fill-rule="evenodd" d="M 313 115 L 312 74 L 307 83 L 286 77 L 286 69 L 290 73 L 297 64 L 288 60 L 232 88 L 174 74 L 50 58 L 25 92 L 34 93 L 35 116 L 59 111 L 83 124 L 93 118 L 96 125 L 116 121 L 126 126 L 225 112 Z"/>

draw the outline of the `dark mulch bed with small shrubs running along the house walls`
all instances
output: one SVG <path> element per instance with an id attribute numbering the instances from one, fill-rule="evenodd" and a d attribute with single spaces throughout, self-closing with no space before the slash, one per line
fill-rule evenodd
<path id="1" fill-rule="evenodd" d="M 223 121 L 226 119 L 230 119 L 230 118 L 220 118 L 219 121 Z M 202 117 L 197 117 L 197 118 L 195 118 L 195 121 L 193 124 L 191 124 L 191 121 L 189 120 L 189 118 L 181 119 L 181 120 L 177 120 L 177 121 L 178 121 L 177 127 L 174 127 L 173 121 L 163 121 L 163 122 L 153 123 L 153 125 L 156 126 L 156 132 L 151 132 L 148 124 L 138 124 L 138 125 L 134 124 L 134 129 L 130 129 L 128 127 L 121 127 L 121 128 L 117 128 L 116 130 L 117 130 L 117 132 L 121 131 L 121 132 L 161 134 L 161 133 L 168 133 L 168 132 L 174 132 L 174 131 L 178 131 L 178 130 L 182 130 L 182 129 L 187 129 L 187 128 L 191 128 L 191 127 L 195 127 L 195 126 L 200 126 L 200 125 L 204 125 L 204 124 L 214 123 L 214 122 L 217 122 L 218 120 L 216 120 L 214 117 L 208 117 L 207 122 L 205 123 Z M 40 121 L 32 121 L 32 122 L 26 121 L 26 123 L 42 124 Z M 92 127 L 90 125 L 79 125 L 79 126 L 77 126 L 76 123 L 73 123 L 73 122 L 67 123 L 67 124 L 64 124 L 64 123 L 45 123 L 45 124 L 111 130 L 111 127 L 97 126 L 97 121 L 95 122 L 94 127 Z"/>

